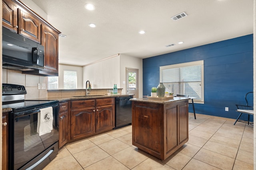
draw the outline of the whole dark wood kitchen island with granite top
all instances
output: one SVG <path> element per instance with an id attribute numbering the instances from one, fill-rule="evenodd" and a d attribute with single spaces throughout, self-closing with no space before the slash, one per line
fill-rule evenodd
<path id="1" fill-rule="evenodd" d="M 190 98 L 133 98 L 132 145 L 165 160 L 188 141 Z"/>

